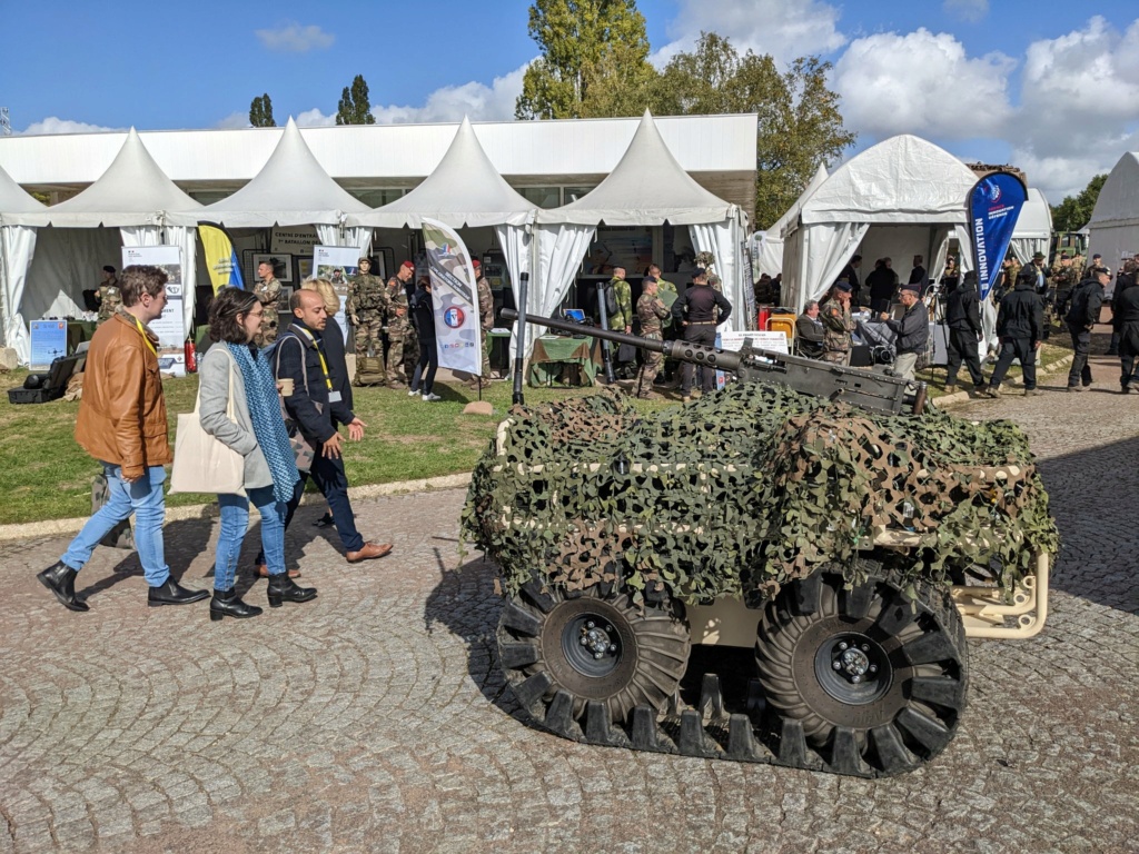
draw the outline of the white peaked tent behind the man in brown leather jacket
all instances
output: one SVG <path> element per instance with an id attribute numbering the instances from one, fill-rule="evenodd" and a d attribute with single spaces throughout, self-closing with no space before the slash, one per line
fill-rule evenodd
<path id="1" fill-rule="evenodd" d="M 9 213 L 5 224 L 38 229 L 26 257 L 26 284 L 13 293 L 11 323 L 24 327 L 24 317 L 64 317 L 82 313 L 84 282 L 95 284 L 104 264 L 121 263 L 121 246 L 178 246 L 182 251 L 182 287 L 194 293 L 196 212 L 202 208 L 162 171 L 132 128 L 115 159 L 77 196 L 51 207 Z M 117 229 L 117 231 L 116 231 Z M 39 245 L 39 253 L 33 249 Z M 18 257 L 15 258 L 18 262 Z M 183 302 L 185 322 L 192 317 L 192 299 Z M 31 355 L 26 331 L 13 331 L 18 358 Z"/>

